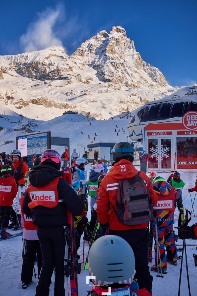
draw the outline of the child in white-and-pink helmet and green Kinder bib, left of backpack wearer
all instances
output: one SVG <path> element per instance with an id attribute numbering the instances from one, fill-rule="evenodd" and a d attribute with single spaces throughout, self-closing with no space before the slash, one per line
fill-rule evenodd
<path id="1" fill-rule="evenodd" d="M 92 209 L 95 204 L 95 192 L 98 188 L 98 177 L 104 173 L 104 166 L 100 164 L 95 164 L 90 170 L 89 180 L 87 181 L 88 194 L 90 196 L 90 208 Z"/>

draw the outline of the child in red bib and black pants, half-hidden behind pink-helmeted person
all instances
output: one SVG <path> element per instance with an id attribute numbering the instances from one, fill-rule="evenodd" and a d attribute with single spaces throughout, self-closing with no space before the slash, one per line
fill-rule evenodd
<path id="1" fill-rule="evenodd" d="M 40 158 L 40 157 L 36 157 Z M 34 159 L 34 163 L 36 161 Z M 30 184 L 29 182 L 29 174 L 28 171 L 25 174 L 25 191 L 27 191 L 27 186 Z M 35 256 L 37 254 L 38 257 L 38 277 L 40 275 L 40 270 L 43 263 L 42 252 L 40 249 L 40 243 L 38 240 L 38 236 L 36 233 L 37 227 L 33 224 L 32 218 L 25 215 L 22 210 L 22 203 L 24 200 L 24 196 L 21 196 L 19 202 L 19 192 L 17 196 L 13 200 L 12 208 L 16 212 L 16 214 L 21 215 L 21 226 L 23 228 L 22 231 L 22 239 L 24 240 L 23 246 L 25 245 L 25 249 L 22 251 L 22 269 L 21 269 L 21 281 L 22 281 L 22 289 L 27 289 L 29 284 L 32 282 L 33 269 L 34 269 L 34 261 Z"/>

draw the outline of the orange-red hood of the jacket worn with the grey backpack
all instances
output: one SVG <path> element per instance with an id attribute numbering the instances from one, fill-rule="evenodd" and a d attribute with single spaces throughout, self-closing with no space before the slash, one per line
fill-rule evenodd
<path id="1" fill-rule="evenodd" d="M 133 163 L 129 160 L 121 159 L 116 163 L 109 172 L 109 175 L 115 179 L 131 179 L 136 176 L 138 170 L 134 167 Z"/>

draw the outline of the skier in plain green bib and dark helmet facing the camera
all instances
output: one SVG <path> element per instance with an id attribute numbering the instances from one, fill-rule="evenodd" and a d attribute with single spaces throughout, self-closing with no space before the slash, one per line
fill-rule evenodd
<path id="1" fill-rule="evenodd" d="M 185 183 L 183 180 L 180 178 L 180 173 L 174 172 L 172 173 L 169 178 L 167 179 L 167 182 L 176 190 L 180 189 L 182 190 L 183 187 L 185 186 Z M 175 200 L 175 208 L 176 206 L 178 207 L 178 210 L 180 211 L 180 208 L 183 208 L 183 199 L 182 199 L 182 194 L 178 199 Z"/>

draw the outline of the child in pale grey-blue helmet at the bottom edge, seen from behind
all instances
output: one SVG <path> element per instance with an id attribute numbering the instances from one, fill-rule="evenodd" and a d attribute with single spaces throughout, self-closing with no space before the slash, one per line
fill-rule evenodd
<path id="1" fill-rule="evenodd" d="M 94 277 L 91 280 L 94 286 L 88 295 L 151 296 L 146 289 L 139 289 L 136 282 L 132 283 L 135 256 L 128 242 L 117 235 L 99 237 L 92 244 L 88 253 L 88 269 L 90 276 Z"/>

